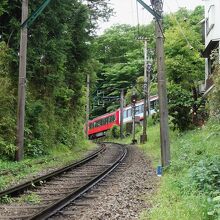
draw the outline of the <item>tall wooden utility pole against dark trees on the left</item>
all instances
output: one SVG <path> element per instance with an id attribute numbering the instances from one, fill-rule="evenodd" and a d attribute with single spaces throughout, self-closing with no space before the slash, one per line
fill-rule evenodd
<path id="1" fill-rule="evenodd" d="M 28 18 L 28 0 L 22 0 L 21 23 Z M 18 80 L 18 116 L 16 135 L 16 161 L 24 157 L 24 118 L 25 118 L 25 83 L 26 83 L 26 63 L 27 63 L 27 26 L 21 28 L 20 53 L 19 53 L 19 80 Z"/>

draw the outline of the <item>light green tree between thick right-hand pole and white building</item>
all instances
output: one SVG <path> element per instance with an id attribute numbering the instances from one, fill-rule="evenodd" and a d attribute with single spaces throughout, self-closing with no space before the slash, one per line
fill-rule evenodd
<path id="1" fill-rule="evenodd" d="M 191 123 L 198 123 L 200 97 L 197 88 L 200 81 L 204 79 L 204 59 L 200 57 L 200 51 L 203 48 L 202 36 L 196 26 L 197 23 L 194 23 L 194 19 L 199 20 L 199 17 L 203 17 L 201 7 L 196 8 L 194 12 L 181 9 L 175 14 L 167 15 L 169 25 L 165 32 L 165 62 L 168 80 L 178 86 L 177 91 L 182 91 L 185 95 L 191 94 L 190 97 L 193 98 L 189 107 L 189 103 L 181 100 L 181 94 L 179 96 L 170 94 L 170 96 L 179 97 L 176 100 L 176 108 L 169 106 L 169 111 L 180 130 L 184 130 L 184 127 L 187 129 Z M 174 89 L 171 92 L 176 91 Z M 192 110 L 191 114 L 189 114 L 189 108 Z M 176 109 L 187 109 L 188 113 L 184 110 L 176 114 Z M 182 119 L 186 116 L 188 118 L 183 123 Z"/>

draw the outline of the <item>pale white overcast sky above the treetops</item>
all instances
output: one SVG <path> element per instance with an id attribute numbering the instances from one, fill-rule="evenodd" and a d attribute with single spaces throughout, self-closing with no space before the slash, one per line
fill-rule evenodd
<path id="1" fill-rule="evenodd" d="M 150 5 L 150 0 L 143 0 L 146 4 Z M 112 7 L 115 9 L 115 16 L 110 19 L 108 23 L 100 24 L 100 31 L 98 34 L 103 33 L 104 29 L 109 28 L 113 24 L 130 24 L 137 25 L 137 6 L 136 0 L 111 0 Z M 203 5 L 202 0 L 164 0 L 164 12 L 170 13 L 177 11 L 179 7 L 186 7 L 193 10 L 196 6 Z M 150 13 L 143 9 L 138 3 L 139 23 L 148 24 L 152 20 Z"/>

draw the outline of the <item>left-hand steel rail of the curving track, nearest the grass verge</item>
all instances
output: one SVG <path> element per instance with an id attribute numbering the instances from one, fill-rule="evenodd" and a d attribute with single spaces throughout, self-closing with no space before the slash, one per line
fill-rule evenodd
<path id="1" fill-rule="evenodd" d="M 43 181 L 48 181 L 51 178 L 58 176 L 64 172 L 67 172 L 71 169 L 75 169 L 77 167 L 80 167 L 82 165 L 84 165 L 85 163 L 91 161 L 92 159 L 94 159 L 95 157 L 97 157 L 101 152 L 103 152 L 105 150 L 105 145 L 103 144 L 101 148 L 99 148 L 98 150 L 96 150 L 94 153 L 88 155 L 87 157 L 83 158 L 82 160 L 79 160 L 77 162 L 74 162 L 68 166 L 62 167 L 60 169 L 57 169 L 55 171 L 52 171 L 51 173 L 45 174 L 43 176 L 37 177 L 33 180 L 27 181 L 25 183 L 21 183 L 19 185 L 16 185 L 14 187 L 10 187 L 6 190 L 3 190 L 0 192 L 0 198 L 6 195 L 18 195 L 20 193 L 22 193 L 25 189 L 27 188 L 31 188 L 37 185 L 41 185 L 41 182 Z"/>

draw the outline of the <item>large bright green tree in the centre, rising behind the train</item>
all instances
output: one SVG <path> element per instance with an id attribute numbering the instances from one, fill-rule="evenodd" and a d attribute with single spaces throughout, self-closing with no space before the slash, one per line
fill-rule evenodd
<path id="1" fill-rule="evenodd" d="M 101 63 L 97 74 L 97 89 L 104 91 L 105 96 L 119 97 L 122 88 L 126 93 L 132 86 L 136 86 L 137 78 L 144 72 L 144 45 L 143 41 L 137 39 L 138 34 L 153 39 L 153 31 L 152 24 L 141 26 L 139 33 L 137 27 L 116 25 L 95 39 L 95 57 Z M 150 41 L 149 48 L 152 45 L 153 40 Z M 118 107 L 119 101 L 111 101 L 105 103 L 104 107 L 96 108 L 93 114 L 103 114 Z"/>

